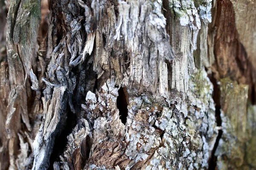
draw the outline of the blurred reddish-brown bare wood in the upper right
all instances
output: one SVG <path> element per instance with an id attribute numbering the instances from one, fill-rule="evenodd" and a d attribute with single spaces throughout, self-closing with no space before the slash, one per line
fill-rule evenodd
<path id="1" fill-rule="evenodd" d="M 247 49 L 239 39 L 233 3 L 230 0 L 217 0 L 213 10 L 214 20 L 210 24 L 209 34 L 215 34 L 213 47 L 215 77 L 218 80 L 230 77 L 241 84 L 249 85 L 249 97 L 254 103 L 256 70 L 252 59 L 247 56 Z M 253 27 L 253 22 L 251 26 Z M 253 38 L 249 37 L 248 41 Z"/>

